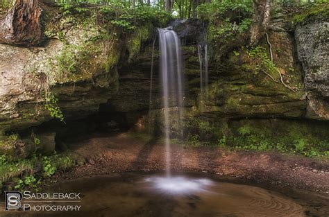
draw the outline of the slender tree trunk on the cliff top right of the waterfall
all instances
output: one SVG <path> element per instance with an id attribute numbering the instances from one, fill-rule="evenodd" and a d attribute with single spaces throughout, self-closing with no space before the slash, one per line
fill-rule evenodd
<path id="1" fill-rule="evenodd" d="M 251 45 L 258 44 L 264 36 L 270 21 L 271 0 L 253 0 L 253 24 L 251 25 Z"/>

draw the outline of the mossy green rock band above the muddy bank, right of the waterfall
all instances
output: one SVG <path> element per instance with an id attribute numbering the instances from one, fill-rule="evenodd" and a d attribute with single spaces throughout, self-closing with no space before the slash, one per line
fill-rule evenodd
<path id="1" fill-rule="evenodd" d="M 184 144 L 188 146 L 276 150 L 289 155 L 329 158 L 328 126 L 324 124 L 279 119 L 242 119 L 227 123 L 224 119 L 208 121 L 205 117 L 190 116 L 183 126 Z"/>

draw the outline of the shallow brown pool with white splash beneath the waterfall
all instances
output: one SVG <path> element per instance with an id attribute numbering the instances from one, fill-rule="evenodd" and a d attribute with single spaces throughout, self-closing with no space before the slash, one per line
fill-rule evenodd
<path id="1" fill-rule="evenodd" d="M 307 207 L 255 186 L 198 175 L 125 173 L 73 180 L 44 192 L 81 192 L 81 211 L 0 211 L 0 216 L 305 216 Z M 50 205 L 67 203 L 52 203 Z"/>

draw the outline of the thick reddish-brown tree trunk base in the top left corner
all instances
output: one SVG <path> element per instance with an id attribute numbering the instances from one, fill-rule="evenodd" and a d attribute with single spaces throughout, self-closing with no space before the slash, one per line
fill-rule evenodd
<path id="1" fill-rule="evenodd" d="M 41 8 L 37 0 L 16 0 L 0 19 L 0 43 L 37 45 L 42 40 Z"/>

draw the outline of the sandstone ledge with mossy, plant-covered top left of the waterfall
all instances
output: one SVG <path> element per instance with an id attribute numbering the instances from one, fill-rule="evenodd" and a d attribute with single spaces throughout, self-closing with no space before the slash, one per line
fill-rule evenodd
<path id="1" fill-rule="evenodd" d="M 153 26 L 170 18 L 141 11 L 130 21 L 120 17 L 126 10 L 111 6 L 41 6 L 42 46 L 0 44 L 3 141 L 6 132 L 97 112 L 117 94 L 118 66 L 135 61 L 142 43 L 151 40 Z"/>

